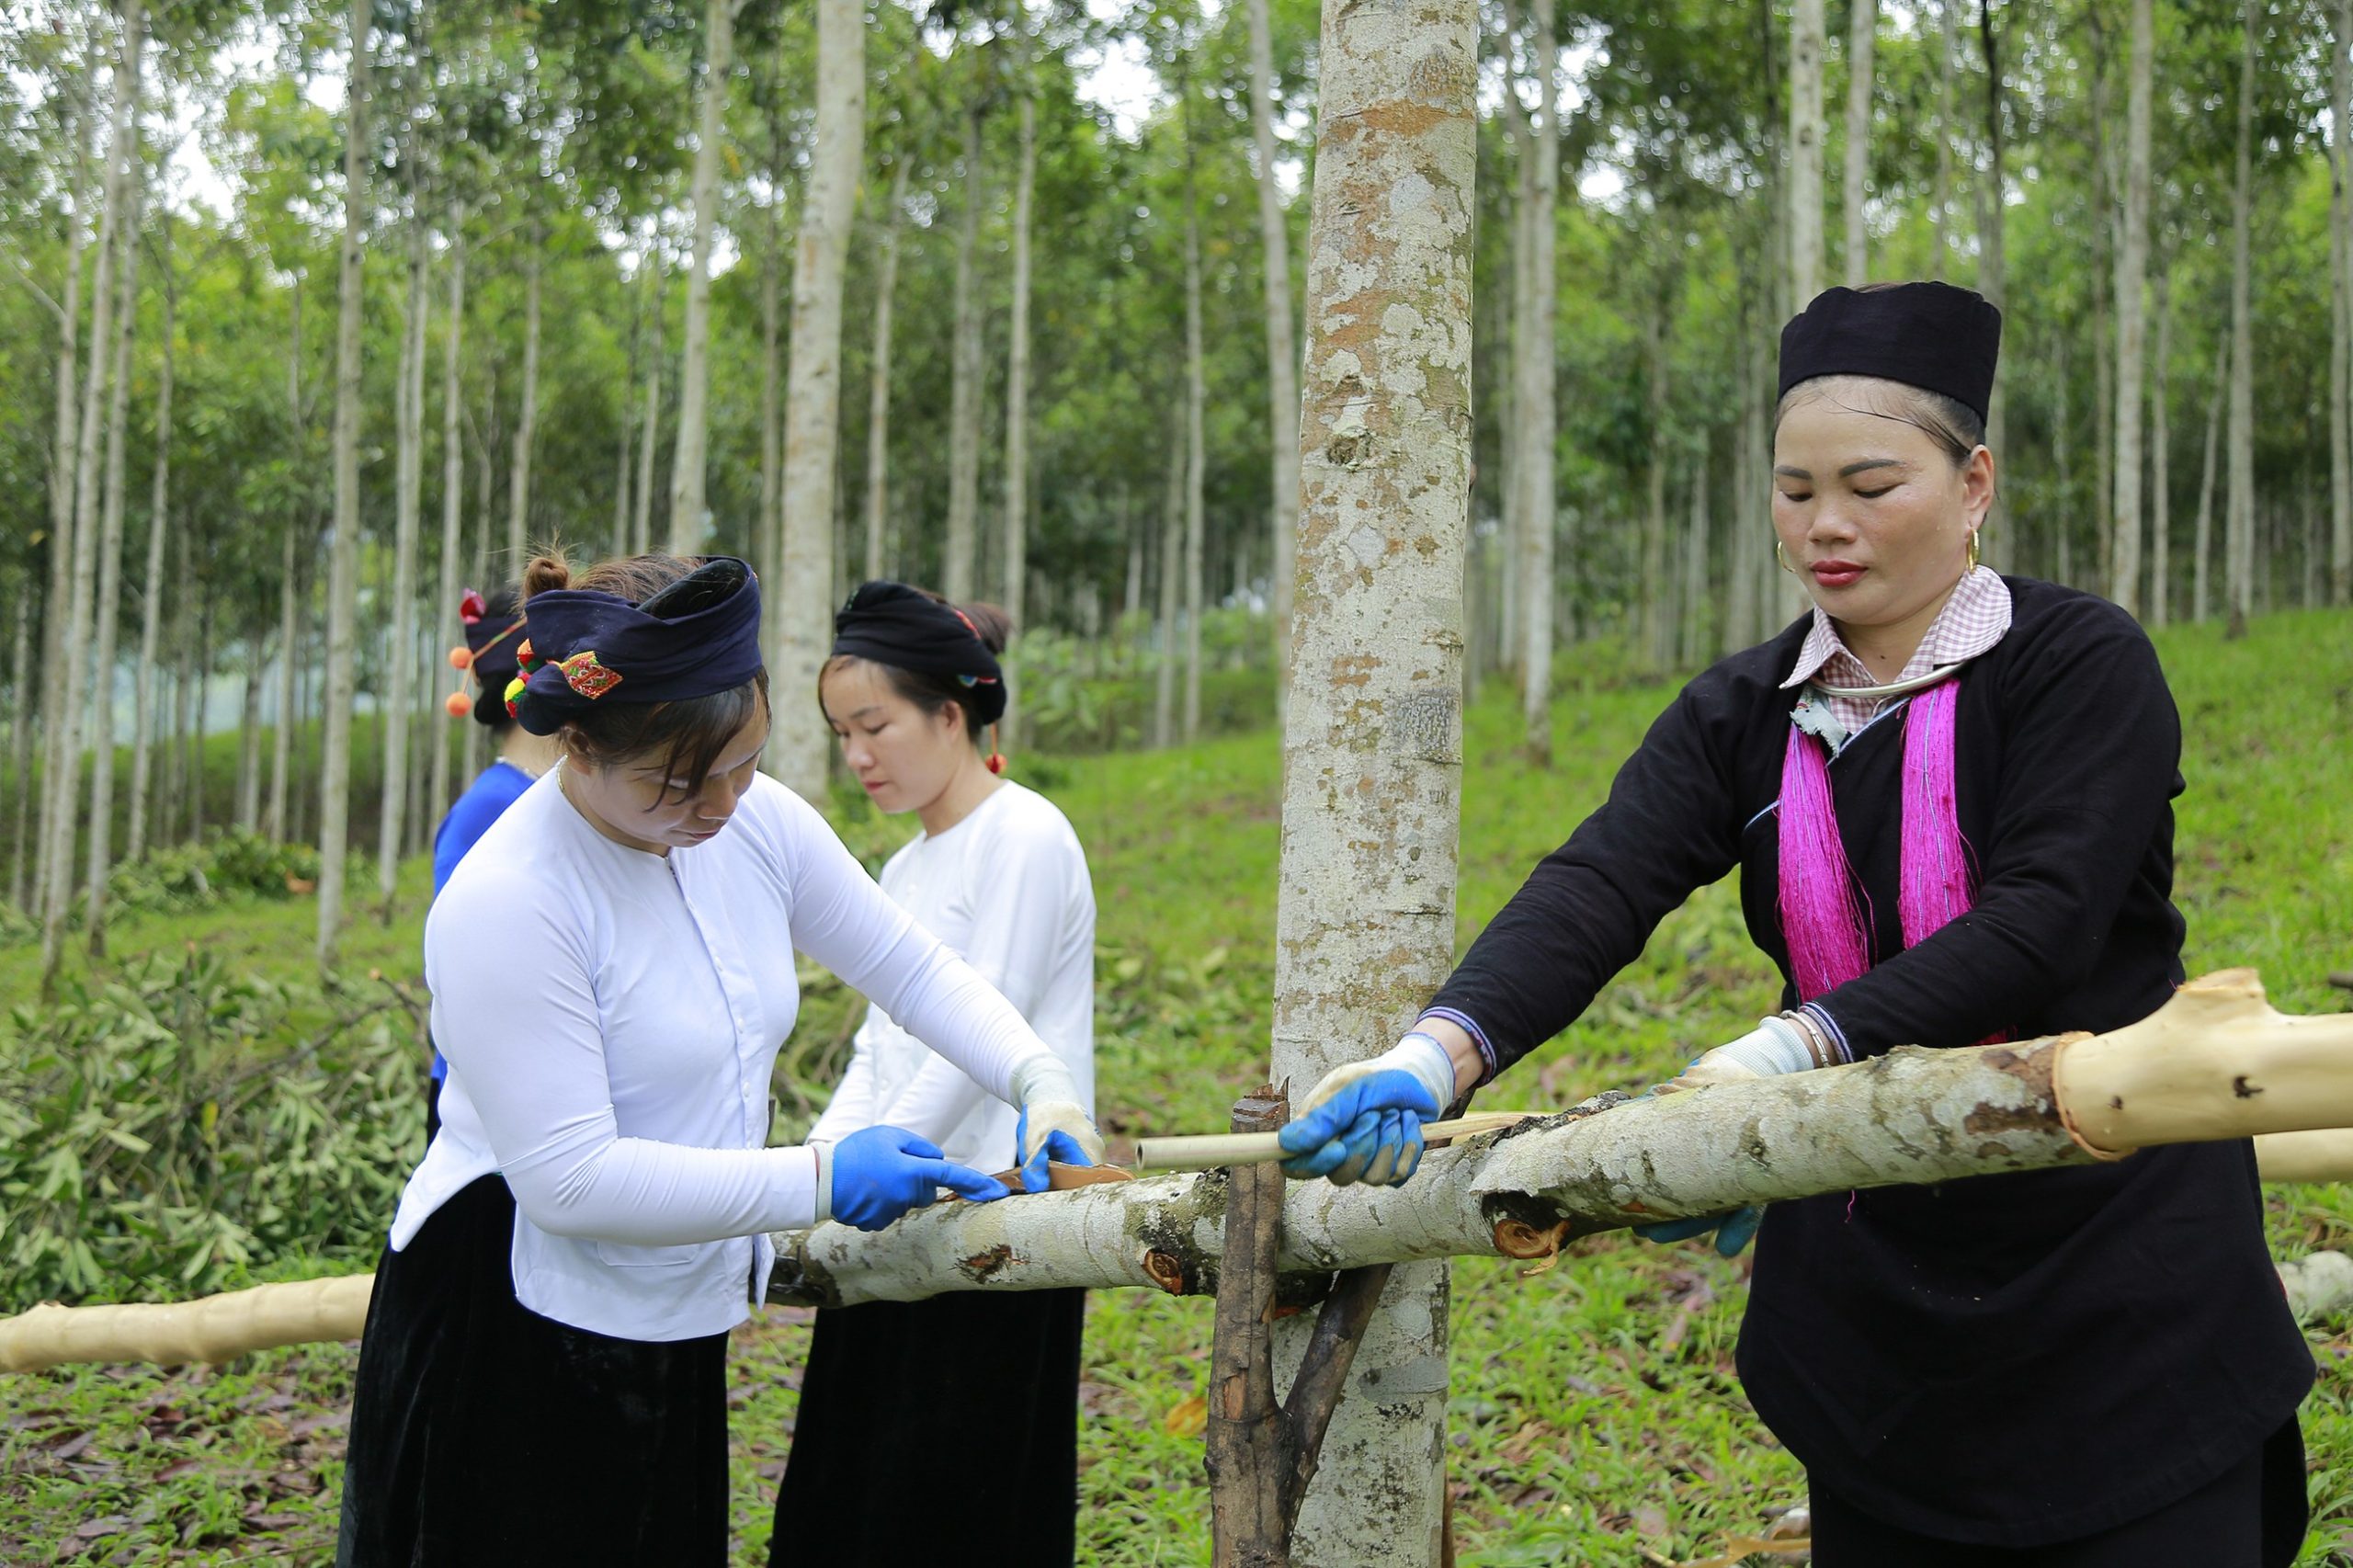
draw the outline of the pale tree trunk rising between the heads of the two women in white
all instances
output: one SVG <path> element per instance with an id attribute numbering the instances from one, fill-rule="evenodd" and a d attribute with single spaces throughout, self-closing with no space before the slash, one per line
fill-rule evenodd
<path id="1" fill-rule="evenodd" d="M 793 370 L 784 410 L 784 563 L 769 631 L 779 687 L 807 702 L 833 643 L 833 473 L 842 417 L 842 271 L 866 167 L 866 21 L 856 0 L 816 0 L 816 151 L 793 259 Z M 784 725 L 769 768 L 824 798 L 824 725 Z"/>

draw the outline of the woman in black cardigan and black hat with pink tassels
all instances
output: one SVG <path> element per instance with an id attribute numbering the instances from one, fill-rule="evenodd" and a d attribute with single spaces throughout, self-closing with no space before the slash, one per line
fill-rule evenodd
<path id="1" fill-rule="evenodd" d="M 1668 1088 L 2113 1029 L 2181 982 L 2155 650 L 1977 565 L 1998 344 L 1937 283 L 1784 330 L 1774 532 L 1814 612 L 1675 697 L 1421 1022 L 1315 1085 L 1292 1175 L 1412 1175 L 1424 1118 L 1734 866 L 1788 1010 Z M 1739 1370 L 1807 1467 L 1817 1568 L 2285 1568 L 2304 1540 L 2313 1363 L 2245 1140 L 1774 1203 Z"/>

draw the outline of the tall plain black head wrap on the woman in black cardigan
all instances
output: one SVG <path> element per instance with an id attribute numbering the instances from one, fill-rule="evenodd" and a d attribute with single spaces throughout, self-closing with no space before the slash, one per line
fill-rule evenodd
<path id="1" fill-rule="evenodd" d="M 1814 377 L 1878 377 L 1944 393 L 1979 419 L 1993 400 L 2002 313 L 1951 283 L 1824 290 L 1781 327 L 1781 391 Z"/>

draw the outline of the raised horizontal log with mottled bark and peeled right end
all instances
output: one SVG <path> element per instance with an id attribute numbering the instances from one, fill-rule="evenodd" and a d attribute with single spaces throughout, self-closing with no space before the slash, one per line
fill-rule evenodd
<path id="1" fill-rule="evenodd" d="M 2104 1036 L 1894 1050 L 1854 1067 L 1586 1102 L 1431 1151 L 1405 1187 L 1297 1182 L 1278 1267 L 1544 1257 L 1572 1236 L 1854 1187 L 2120 1158 L 2137 1147 L 2353 1125 L 2353 1015 L 2282 1017 L 2252 970 Z M 2073 1128 L 2073 1132 L 2071 1132 Z M 1224 1172 L 948 1203 L 889 1231 L 776 1236 L 769 1300 L 1217 1288 Z"/>

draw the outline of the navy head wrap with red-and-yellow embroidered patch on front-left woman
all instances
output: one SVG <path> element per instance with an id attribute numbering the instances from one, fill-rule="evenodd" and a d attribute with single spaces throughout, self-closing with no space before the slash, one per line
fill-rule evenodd
<path id="1" fill-rule="evenodd" d="M 760 579 L 713 556 L 642 605 L 595 589 L 529 600 L 532 636 L 506 711 L 555 735 L 598 702 L 685 702 L 732 692 L 760 673 Z"/>

